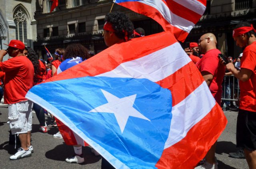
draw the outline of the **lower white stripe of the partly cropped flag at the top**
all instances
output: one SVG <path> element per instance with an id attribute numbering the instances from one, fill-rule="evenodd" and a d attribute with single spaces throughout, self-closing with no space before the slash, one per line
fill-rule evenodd
<path id="1" fill-rule="evenodd" d="M 170 11 L 168 6 L 166 6 L 166 4 L 162 0 L 139 0 L 138 2 L 156 8 L 167 22 L 169 22 L 172 26 L 175 26 L 176 28 L 182 29 L 183 31 L 189 33 L 195 25 L 193 22 L 190 22 L 189 20 L 173 14 L 172 11 Z"/>

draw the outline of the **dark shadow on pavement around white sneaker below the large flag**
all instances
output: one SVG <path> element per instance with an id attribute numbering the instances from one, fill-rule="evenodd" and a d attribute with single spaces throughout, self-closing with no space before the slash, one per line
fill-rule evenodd
<path id="1" fill-rule="evenodd" d="M 101 156 L 95 156 L 90 152 L 91 148 L 86 146 L 82 147 L 82 153 L 84 155 L 84 163 L 81 165 L 96 163 L 100 161 Z M 74 148 L 71 145 L 66 145 L 64 142 L 61 145 L 57 145 L 54 149 L 47 151 L 45 157 L 57 161 L 65 161 L 67 157 L 74 155 Z"/>

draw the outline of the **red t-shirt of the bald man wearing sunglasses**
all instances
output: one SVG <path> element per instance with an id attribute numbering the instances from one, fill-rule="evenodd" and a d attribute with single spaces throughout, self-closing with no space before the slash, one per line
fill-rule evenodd
<path id="1" fill-rule="evenodd" d="M 218 49 L 211 49 L 210 51 L 207 51 L 204 56 L 196 63 L 196 66 L 201 73 L 202 71 L 207 71 L 213 75 L 209 89 L 218 104 L 221 103 L 221 84 L 225 75 L 225 66 L 220 63 L 218 57 L 218 54 L 220 53 L 221 52 Z"/>

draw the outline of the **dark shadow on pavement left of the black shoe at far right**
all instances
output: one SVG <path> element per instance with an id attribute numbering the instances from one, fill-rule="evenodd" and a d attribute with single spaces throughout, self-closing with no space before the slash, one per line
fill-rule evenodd
<path id="1" fill-rule="evenodd" d="M 218 141 L 216 146 L 216 153 L 222 154 L 222 153 L 234 153 L 238 151 L 239 148 L 236 147 L 236 144 L 232 143 L 231 141 Z"/>

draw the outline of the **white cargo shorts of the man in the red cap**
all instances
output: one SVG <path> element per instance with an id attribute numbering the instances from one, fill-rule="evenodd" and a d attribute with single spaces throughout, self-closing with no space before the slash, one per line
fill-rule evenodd
<path id="1" fill-rule="evenodd" d="M 8 119 L 12 134 L 27 133 L 32 130 L 32 107 L 30 100 L 8 104 Z"/>

